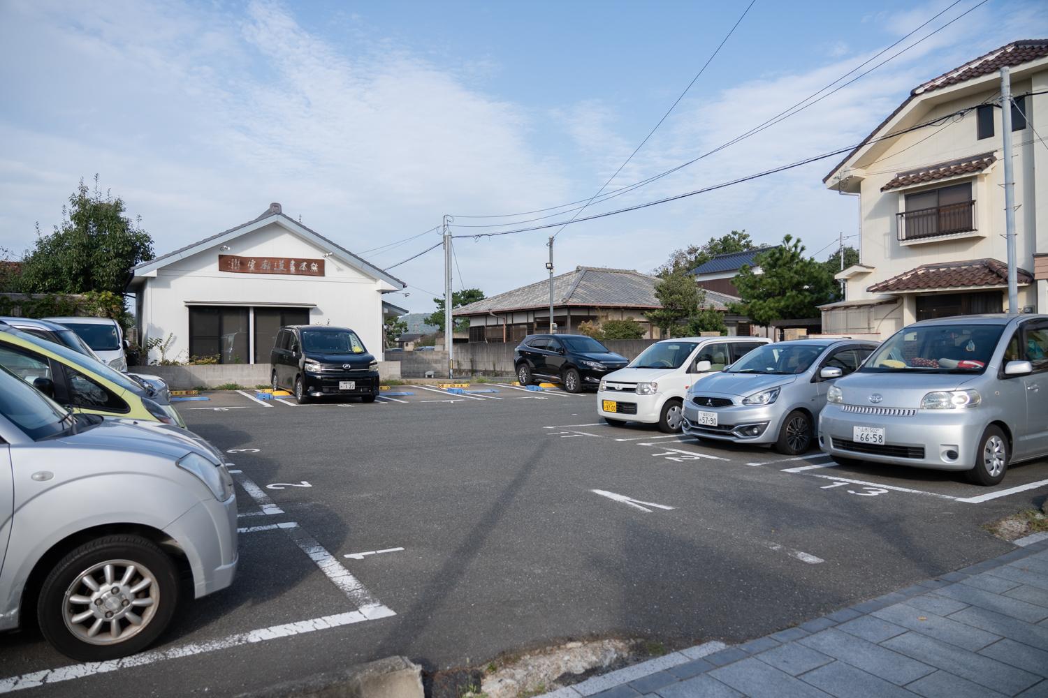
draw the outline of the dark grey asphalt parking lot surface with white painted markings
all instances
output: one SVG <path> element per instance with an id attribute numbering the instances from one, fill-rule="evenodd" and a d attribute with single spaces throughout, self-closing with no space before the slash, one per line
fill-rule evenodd
<path id="1" fill-rule="evenodd" d="M 390 654 L 737 643 L 1007 553 L 981 524 L 1048 493 L 1048 461 L 984 489 L 611 427 L 592 393 L 471 389 L 494 391 L 177 403 L 240 471 L 234 586 L 121 661 L 4 636 L 0 692 L 235 695 Z"/>

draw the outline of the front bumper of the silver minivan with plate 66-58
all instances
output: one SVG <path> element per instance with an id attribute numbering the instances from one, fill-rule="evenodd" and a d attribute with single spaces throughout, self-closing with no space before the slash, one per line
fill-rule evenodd
<path id="1" fill-rule="evenodd" d="M 917 410 L 910 416 L 855 414 L 827 405 L 818 416 L 818 445 L 844 458 L 935 470 L 970 470 L 986 425 L 978 408 Z M 853 427 L 885 429 L 885 444 L 853 441 Z"/>

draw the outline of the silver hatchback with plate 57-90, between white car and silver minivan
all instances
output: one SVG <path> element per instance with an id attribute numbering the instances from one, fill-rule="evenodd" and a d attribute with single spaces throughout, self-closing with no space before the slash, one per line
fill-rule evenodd
<path id="1" fill-rule="evenodd" d="M 684 400 L 682 430 L 689 436 L 773 444 L 782 453 L 803 453 L 814 442 L 829 386 L 875 347 L 852 339 L 759 346 L 722 373 L 695 382 Z"/>

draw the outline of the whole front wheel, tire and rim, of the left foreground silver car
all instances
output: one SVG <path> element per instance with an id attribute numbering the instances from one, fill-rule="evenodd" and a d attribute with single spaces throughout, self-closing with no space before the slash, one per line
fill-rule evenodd
<path id="1" fill-rule="evenodd" d="M 107 564 L 112 565 L 108 577 Z M 87 577 L 100 587 L 97 591 L 84 583 Z M 134 591 L 141 584 L 147 586 Z M 114 588 L 118 589 L 115 594 Z M 37 620 L 44 637 L 62 654 L 105 661 L 152 645 L 171 622 L 178 594 L 175 562 L 155 543 L 140 536 L 105 536 L 71 550 L 54 565 L 40 589 Z M 85 603 L 72 603 L 79 599 Z M 86 618 L 73 622 L 85 613 L 89 614 Z M 129 613 L 140 623 L 129 621 Z M 90 635 L 95 626 L 95 634 Z M 111 635 L 114 626 L 115 639 Z"/>

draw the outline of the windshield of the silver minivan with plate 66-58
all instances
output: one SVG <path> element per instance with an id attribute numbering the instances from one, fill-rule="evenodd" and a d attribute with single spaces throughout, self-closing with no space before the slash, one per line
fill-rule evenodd
<path id="1" fill-rule="evenodd" d="M 873 353 L 867 374 L 981 374 L 1004 332 L 1003 324 L 929 324 L 905 328 Z"/>

